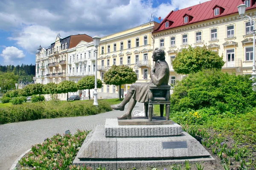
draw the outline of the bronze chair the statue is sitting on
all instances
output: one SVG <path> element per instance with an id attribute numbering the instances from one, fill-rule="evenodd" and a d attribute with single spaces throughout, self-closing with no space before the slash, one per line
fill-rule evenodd
<path id="1" fill-rule="evenodd" d="M 148 103 L 144 103 L 145 116 L 148 116 L 148 121 L 152 120 L 153 105 L 160 105 L 160 116 L 163 117 L 163 108 L 166 105 L 166 120 L 170 118 L 170 85 L 156 86 L 149 85 Z"/>

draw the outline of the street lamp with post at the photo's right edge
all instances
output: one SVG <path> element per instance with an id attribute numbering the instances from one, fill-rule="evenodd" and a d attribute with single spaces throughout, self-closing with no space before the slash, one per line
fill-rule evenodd
<path id="1" fill-rule="evenodd" d="M 246 18 L 249 18 L 250 19 L 250 25 L 253 26 L 253 73 L 252 73 L 252 78 L 255 79 L 256 77 L 256 69 L 255 69 L 255 24 L 254 24 L 254 20 L 255 20 L 255 16 L 254 17 L 249 17 L 247 15 L 244 15 L 245 13 L 245 9 L 246 9 L 246 5 L 245 4 L 241 4 L 239 5 L 237 8 L 238 8 L 238 12 L 239 12 L 239 15 L 241 15 L 241 18 L 242 19 L 246 19 Z"/>

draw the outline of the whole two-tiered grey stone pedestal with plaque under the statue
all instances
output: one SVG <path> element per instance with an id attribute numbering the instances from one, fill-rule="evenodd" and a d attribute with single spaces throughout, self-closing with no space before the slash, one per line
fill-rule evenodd
<path id="1" fill-rule="evenodd" d="M 154 117 L 153 117 L 154 118 Z M 85 139 L 73 164 L 107 170 L 157 167 L 189 161 L 214 160 L 180 125 L 118 125 L 106 119 Z"/>

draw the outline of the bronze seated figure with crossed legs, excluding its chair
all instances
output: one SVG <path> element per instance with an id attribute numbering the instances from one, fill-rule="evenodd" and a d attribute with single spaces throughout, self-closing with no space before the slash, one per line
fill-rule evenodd
<path id="1" fill-rule="evenodd" d="M 148 83 L 132 84 L 123 101 L 118 105 L 111 105 L 112 109 L 123 111 L 125 105 L 129 102 L 126 113 L 117 119 L 131 119 L 131 112 L 136 102 L 148 102 L 148 91 L 151 83 L 154 83 L 156 86 L 168 85 L 170 70 L 169 65 L 165 61 L 165 52 L 161 48 L 155 48 L 152 58 L 155 64 L 150 71 L 151 81 Z"/>

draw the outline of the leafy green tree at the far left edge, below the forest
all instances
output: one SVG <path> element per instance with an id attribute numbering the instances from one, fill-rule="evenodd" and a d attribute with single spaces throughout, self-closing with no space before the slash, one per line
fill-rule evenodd
<path id="1" fill-rule="evenodd" d="M 6 93 L 9 90 L 15 89 L 15 83 L 17 83 L 18 78 L 17 75 L 11 72 L 0 74 L 1 92 Z"/>

